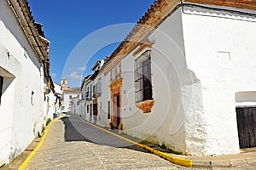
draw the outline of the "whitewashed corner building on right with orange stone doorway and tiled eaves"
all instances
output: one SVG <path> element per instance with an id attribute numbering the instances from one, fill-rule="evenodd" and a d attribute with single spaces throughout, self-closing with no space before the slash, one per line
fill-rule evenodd
<path id="1" fill-rule="evenodd" d="M 88 94 L 101 82 L 94 122 L 184 155 L 256 146 L 255 10 L 254 0 L 155 1 L 84 82 Z"/>

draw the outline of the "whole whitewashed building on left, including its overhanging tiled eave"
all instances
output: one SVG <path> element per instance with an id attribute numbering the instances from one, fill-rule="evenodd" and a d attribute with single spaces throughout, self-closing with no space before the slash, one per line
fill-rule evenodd
<path id="1" fill-rule="evenodd" d="M 41 133 L 52 90 L 49 41 L 25 0 L 0 1 L 0 167 Z"/>

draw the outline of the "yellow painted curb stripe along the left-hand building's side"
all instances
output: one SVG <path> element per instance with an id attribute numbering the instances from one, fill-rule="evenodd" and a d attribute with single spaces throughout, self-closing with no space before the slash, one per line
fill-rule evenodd
<path id="1" fill-rule="evenodd" d="M 22 165 L 19 167 L 19 170 L 24 170 L 28 164 L 28 162 L 32 159 L 32 157 L 36 154 L 36 152 L 39 150 L 39 148 L 41 147 L 41 145 L 44 142 L 44 139 L 46 138 L 47 133 L 49 133 L 49 128 L 51 127 L 52 123 L 61 119 L 62 116 L 55 118 L 52 122 L 49 122 L 49 126 L 47 127 L 43 138 L 41 139 L 41 141 L 39 142 L 39 144 L 37 145 L 37 147 L 32 151 L 32 153 L 26 158 L 26 160 L 22 163 Z"/>

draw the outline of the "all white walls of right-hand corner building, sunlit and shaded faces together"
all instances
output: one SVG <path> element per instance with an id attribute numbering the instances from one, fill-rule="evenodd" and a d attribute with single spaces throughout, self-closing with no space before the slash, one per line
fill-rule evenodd
<path id="1" fill-rule="evenodd" d="M 183 11 L 178 8 L 148 37 L 155 42 L 148 48 L 151 113 L 135 105 L 134 61 L 140 54 L 133 56 L 135 49 L 121 60 L 123 132 L 187 155 L 238 153 L 236 106 L 256 105 L 256 20 L 199 8 Z M 100 72 L 86 86 L 99 78 L 102 95 L 97 98 L 96 123 L 108 127 L 110 71 Z M 91 104 L 86 100 L 85 111 Z M 85 120 L 92 121 L 89 113 Z"/>

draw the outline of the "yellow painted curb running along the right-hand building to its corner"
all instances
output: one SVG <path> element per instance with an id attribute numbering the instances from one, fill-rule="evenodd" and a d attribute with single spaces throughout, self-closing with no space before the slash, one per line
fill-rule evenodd
<path id="1" fill-rule="evenodd" d="M 84 119 L 82 119 L 81 117 L 79 117 L 79 118 L 84 121 Z M 153 148 L 150 148 L 149 146 L 147 146 L 145 144 L 140 144 L 140 143 L 137 143 L 137 142 L 135 142 L 135 141 L 133 141 L 131 139 L 126 139 L 125 137 L 120 136 L 120 135 L 118 135 L 116 133 L 109 132 L 108 130 L 106 130 L 106 129 L 102 128 L 102 127 L 98 127 L 95 124 L 92 124 L 90 122 L 87 122 L 87 121 L 84 121 L 84 122 L 90 124 L 93 127 L 99 128 L 102 131 L 105 131 L 107 133 L 113 134 L 114 136 L 118 137 L 119 139 L 124 139 L 127 142 L 130 142 L 131 144 L 136 144 L 137 146 L 140 146 L 140 147 L 142 147 L 142 148 L 144 148 L 146 150 L 149 150 L 150 152 L 154 153 L 154 155 L 160 156 L 160 157 L 162 157 L 162 158 L 164 158 L 164 159 L 166 159 L 168 161 L 171 161 L 174 164 L 181 165 L 183 167 L 192 167 L 193 166 L 193 161 L 192 160 L 186 160 L 186 159 L 183 159 L 183 158 L 170 156 L 170 155 L 168 155 L 168 154 L 166 154 L 164 152 L 161 152 L 159 150 L 154 150 Z"/>

